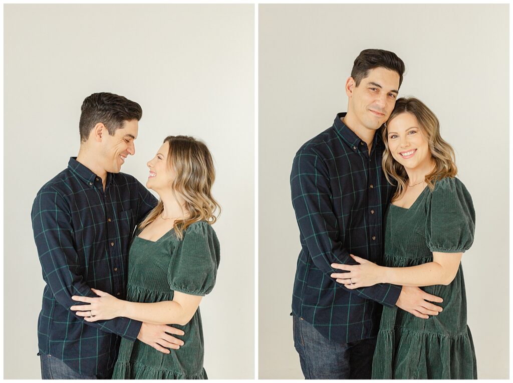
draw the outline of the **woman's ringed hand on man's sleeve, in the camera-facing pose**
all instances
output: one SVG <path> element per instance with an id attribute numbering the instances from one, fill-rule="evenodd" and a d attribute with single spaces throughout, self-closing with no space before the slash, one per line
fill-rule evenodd
<path id="1" fill-rule="evenodd" d="M 347 270 L 349 272 L 332 273 L 331 278 L 336 278 L 338 283 L 344 284 L 345 287 L 351 290 L 358 289 L 359 287 L 373 286 L 384 282 L 382 280 L 384 267 L 378 266 L 366 259 L 353 256 L 353 254 L 349 255 L 360 265 L 332 263 L 331 267 L 334 269 Z"/>

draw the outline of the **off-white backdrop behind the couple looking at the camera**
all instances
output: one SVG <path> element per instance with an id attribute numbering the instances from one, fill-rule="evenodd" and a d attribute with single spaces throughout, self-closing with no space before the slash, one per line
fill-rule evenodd
<path id="1" fill-rule="evenodd" d="M 476 209 L 463 255 L 478 376 L 509 376 L 506 5 L 259 6 L 259 376 L 302 378 L 291 311 L 299 229 L 289 176 L 299 147 L 347 111 L 360 51 L 406 65 L 400 96 L 424 101 L 456 151 Z"/>

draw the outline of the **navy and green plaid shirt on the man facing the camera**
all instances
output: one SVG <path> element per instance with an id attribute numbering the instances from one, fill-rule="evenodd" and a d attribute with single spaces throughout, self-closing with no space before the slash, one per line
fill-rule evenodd
<path id="1" fill-rule="evenodd" d="M 337 342 L 376 336 L 381 312 L 394 306 L 401 286 L 378 284 L 349 290 L 330 277 L 331 263 L 357 264 L 349 253 L 375 263 L 383 256 L 384 210 L 396 186 L 382 172 L 384 144 L 367 144 L 342 121 L 307 141 L 290 175 L 292 204 L 300 229 L 292 314 Z"/>

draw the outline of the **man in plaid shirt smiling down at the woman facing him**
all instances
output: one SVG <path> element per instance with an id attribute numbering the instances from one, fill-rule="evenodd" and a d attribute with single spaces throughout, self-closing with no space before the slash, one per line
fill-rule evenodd
<path id="1" fill-rule="evenodd" d="M 32 206 L 34 240 L 46 286 L 37 331 L 43 379 L 108 379 L 120 337 L 139 339 L 164 353 L 183 342 L 171 326 L 114 318 L 87 322 L 69 308 L 72 295 L 91 288 L 125 297 L 129 241 L 156 199 L 134 177 L 120 173 L 142 109 L 111 93 L 82 104 L 81 145 L 68 167 L 47 182 Z M 90 312 L 93 316 L 94 312 Z"/>

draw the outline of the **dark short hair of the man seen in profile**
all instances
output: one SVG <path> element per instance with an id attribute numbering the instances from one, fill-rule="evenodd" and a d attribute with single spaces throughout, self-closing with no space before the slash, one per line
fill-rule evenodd
<path id="1" fill-rule="evenodd" d="M 82 103 L 80 115 L 80 140 L 87 141 L 91 129 L 102 122 L 109 135 L 113 136 L 117 129 L 123 127 L 125 121 L 139 121 L 143 116 L 141 105 L 126 97 L 112 93 L 93 93 Z"/>

